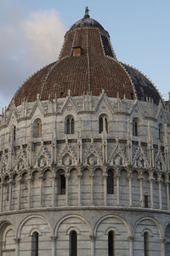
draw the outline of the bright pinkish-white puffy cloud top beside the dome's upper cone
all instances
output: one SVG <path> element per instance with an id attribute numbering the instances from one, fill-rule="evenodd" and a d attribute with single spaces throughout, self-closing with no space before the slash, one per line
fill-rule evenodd
<path id="1" fill-rule="evenodd" d="M 33 12 L 23 22 L 28 57 L 34 63 L 47 64 L 56 60 L 63 42 L 65 27 L 54 9 Z"/>

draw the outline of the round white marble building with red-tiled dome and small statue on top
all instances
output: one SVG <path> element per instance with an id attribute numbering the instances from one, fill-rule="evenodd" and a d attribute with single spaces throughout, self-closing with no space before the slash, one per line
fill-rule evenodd
<path id="1" fill-rule="evenodd" d="M 0 116 L 1 255 L 170 255 L 169 108 L 87 9 Z"/>

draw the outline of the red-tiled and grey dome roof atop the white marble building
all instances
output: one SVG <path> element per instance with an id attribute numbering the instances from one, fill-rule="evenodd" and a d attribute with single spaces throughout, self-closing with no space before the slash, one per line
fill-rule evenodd
<path id="1" fill-rule="evenodd" d="M 75 55 L 74 49 L 79 49 Z M 76 52 L 77 53 L 77 52 Z M 99 96 L 105 90 L 107 96 L 139 99 L 153 98 L 156 104 L 161 96 L 155 86 L 133 67 L 116 60 L 110 37 L 96 20 L 84 16 L 65 34 L 65 42 L 59 61 L 42 68 L 15 93 L 12 102 L 19 106 L 23 99 L 35 102 L 37 94 L 41 100 L 80 96 L 90 92 Z M 161 100 L 162 102 L 162 100 Z M 10 105 L 9 105 L 10 106 Z"/>

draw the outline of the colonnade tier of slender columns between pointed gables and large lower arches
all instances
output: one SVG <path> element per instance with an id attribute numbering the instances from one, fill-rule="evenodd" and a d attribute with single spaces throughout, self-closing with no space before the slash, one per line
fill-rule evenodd
<path id="1" fill-rule="evenodd" d="M 72 168 L 74 170 L 77 170 L 76 168 Z M 62 170 L 62 169 L 60 169 Z M 122 176 L 122 171 L 118 172 L 117 170 L 115 171 L 112 167 L 108 168 L 107 170 L 113 170 L 114 172 L 114 193 L 111 195 L 112 197 L 110 197 L 110 199 L 108 198 L 108 193 L 107 193 L 107 178 L 108 178 L 108 174 L 107 174 L 107 170 L 105 170 L 105 172 L 102 171 L 102 169 L 96 169 L 96 170 L 101 170 L 101 193 L 102 193 L 102 198 L 100 198 L 99 203 L 97 204 L 98 206 L 107 206 L 108 205 L 108 201 L 110 201 L 111 206 L 113 207 L 149 207 L 149 208 L 158 208 L 158 209 L 163 209 L 163 210 L 170 210 L 170 195 L 169 195 L 169 179 L 168 177 L 166 178 L 165 181 L 163 181 L 161 179 L 161 175 L 162 173 L 158 173 L 158 178 L 157 180 L 155 180 L 155 178 L 153 177 L 153 175 L 150 175 L 148 178 L 148 181 L 144 180 L 144 176 L 143 176 L 143 171 L 140 170 L 139 175 L 138 175 L 138 184 L 136 184 L 136 186 L 139 185 L 139 187 L 137 188 L 137 194 L 139 194 L 139 204 L 138 206 L 133 204 L 133 172 L 127 172 L 127 177 L 125 180 L 122 181 L 122 183 L 120 183 L 120 177 Z M 95 184 L 94 184 L 94 180 L 95 180 L 95 171 L 93 172 L 89 172 L 89 187 L 90 187 L 90 191 L 89 191 L 89 198 L 88 198 L 88 206 L 95 206 L 96 205 L 96 201 L 94 199 L 94 192 L 95 192 Z M 51 173 L 51 176 L 48 177 L 48 195 L 50 195 L 51 198 L 51 202 L 48 202 L 48 205 L 46 204 L 46 202 L 44 201 L 44 181 L 45 181 L 45 177 L 44 175 L 39 175 L 38 176 L 38 201 L 37 201 L 37 206 L 36 207 L 60 207 L 60 206 L 69 206 L 70 205 L 70 194 L 71 194 L 71 188 L 70 188 L 70 182 L 71 182 L 71 171 L 70 172 L 65 172 L 65 195 L 60 195 L 59 193 L 59 175 L 57 175 L 55 172 L 50 171 L 49 169 L 47 169 L 48 172 Z M 37 171 L 35 171 L 37 172 Z M 62 171 L 64 172 L 64 170 Z M 77 171 L 77 180 L 78 182 L 75 183 L 75 185 L 77 186 L 77 190 L 76 190 L 76 194 L 77 194 L 77 203 L 75 204 L 75 206 L 82 206 L 85 205 L 83 200 L 82 200 L 82 172 L 78 172 Z M 42 172 L 41 172 L 42 173 Z M 103 174 L 102 174 L 103 173 Z M 148 173 L 149 174 L 149 173 Z M 32 201 L 32 195 L 31 195 L 31 187 L 33 184 L 33 177 L 28 176 L 26 177 L 26 180 L 23 180 L 22 177 L 19 177 L 17 181 L 14 181 L 12 178 L 8 180 L 8 182 L 1 182 L 0 186 L 1 186 L 1 212 L 3 211 L 11 211 L 11 210 L 20 210 L 22 208 L 31 208 L 31 201 Z M 17 183 L 17 196 L 15 198 L 15 204 L 17 203 L 18 207 L 14 207 L 14 209 L 12 208 L 12 204 L 14 204 L 14 196 L 13 196 L 13 192 L 14 192 L 14 182 Z M 147 196 L 149 198 L 149 205 L 146 206 L 144 205 L 144 185 L 145 183 L 148 183 L 148 189 L 147 189 Z M 156 183 L 157 186 L 157 190 L 158 190 L 158 201 L 156 201 L 155 195 L 154 195 L 154 189 L 153 189 L 153 183 Z M 21 207 L 21 193 L 23 191 L 23 185 L 26 186 L 25 188 L 25 193 L 26 193 L 26 206 L 25 207 Z M 127 201 L 126 204 L 122 204 L 122 198 L 121 198 L 121 193 L 122 193 L 122 189 L 121 186 L 124 186 L 127 190 Z M 164 191 L 162 191 L 162 188 L 166 189 L 166 193 L 164 193 Z M 97 192 L 95 192 L 97 193 Z M 162 193 L 164 193 L 162 195 Z M 33 195 L 34 196 L 34 195 Z M 60 196 L 60 200 L 62 200 L 62 205 L 59 205 L 58 203 L 58 199 Z M 113 199 L 112 203 L 111 203 L 111 198 Z M 165 198 L 166 198 L 166 203 L 165 203 Z M 16 202 L 17 200 L 17 202 Z M 164 206 L 163 206 L 163 202 L 162 200 L 164 200 Z M 159 207 L 155 207 L 154 203 L 157 203 L 159 205 Z M 166 207 L 165 207 L 166 204 Z M 163 206 L 163 207 L 162 207 Z"/>

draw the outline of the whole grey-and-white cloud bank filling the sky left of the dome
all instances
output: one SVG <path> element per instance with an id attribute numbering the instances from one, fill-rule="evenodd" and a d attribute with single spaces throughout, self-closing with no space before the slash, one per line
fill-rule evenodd
<path id="1" fill-rule="evenodd" d="M 31 12 L 25 20 L 21 15 L 6 20 L 0 20 L 0 108 L 29 75 L 57 60 L 65 35 L 54 9 Z"/>

